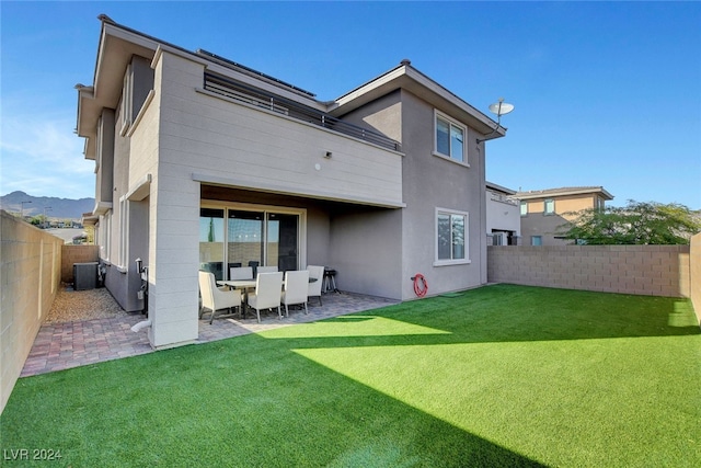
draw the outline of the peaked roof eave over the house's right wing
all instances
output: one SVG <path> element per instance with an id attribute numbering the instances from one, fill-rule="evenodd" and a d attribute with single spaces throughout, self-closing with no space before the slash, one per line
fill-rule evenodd
<path id="1" fill-rule="evenodd" d="M 506 135 L 506 128 L 498 126 L 492 118 L 407 62 L 402 62 L 399 67 L 336 99 L 330 105 L 330 113 L 341 117 L 399 89 L 423 99 L 482 135 L 492 134 L 489 139 Z"/>

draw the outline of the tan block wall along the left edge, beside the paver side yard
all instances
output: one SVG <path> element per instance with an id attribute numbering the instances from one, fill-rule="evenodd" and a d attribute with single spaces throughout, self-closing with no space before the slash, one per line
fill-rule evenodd
<path id="1" fill-rule="evenodd" d="M 60 286 L 62 239 L 0 212 L 0 412 Z"/>

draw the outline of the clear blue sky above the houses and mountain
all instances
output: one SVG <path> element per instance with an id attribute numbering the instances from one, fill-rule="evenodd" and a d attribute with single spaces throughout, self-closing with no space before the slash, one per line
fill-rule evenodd
<path id="1" fill-rule="evenodd" d="M 94 196 L 76 83 L 100 21 L 337 98 L 409 58 L 476 109 L 505 98 L 487 180 L 601 185 L 701 209 L 699 2 L 0 2 L 0 194 Z"/>

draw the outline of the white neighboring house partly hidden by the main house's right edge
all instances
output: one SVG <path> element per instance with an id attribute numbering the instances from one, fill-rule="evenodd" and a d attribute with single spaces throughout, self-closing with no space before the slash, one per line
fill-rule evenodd
<path id="1" fill-rule="evenodd" d="M 486 243 L 520 246 L 521 218 L 516 191 L 486 182 Z"/>

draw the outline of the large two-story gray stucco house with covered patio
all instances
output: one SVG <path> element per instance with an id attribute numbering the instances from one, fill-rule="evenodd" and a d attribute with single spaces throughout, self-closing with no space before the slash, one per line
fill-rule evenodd
<path id="1" fill-rule="evenodd" d="M 343 290 L 486 283 L 484 140 L 503 127 L 402 61 L 333 101 L 102 15 L 78 135 L 95 160 L 105 286 L 149 340 L 192 342 L 197 271 L 326 265 Z M 496 132 L 493 132 L 497 128 Z"/>

